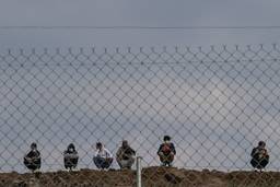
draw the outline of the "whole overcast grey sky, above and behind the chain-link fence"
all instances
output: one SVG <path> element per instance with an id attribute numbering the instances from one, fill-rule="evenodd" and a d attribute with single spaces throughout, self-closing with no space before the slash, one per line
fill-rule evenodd
<path id="1" fill-rule="evenodd" d="M 1 3 L 0 26 L 277 26 L 279 5 L 278 1 L 260 0 L 9 0 Z M 209 51 L 207 46 L 217 45 L 210 55 L 220 58 L 215 51 L 223 50 L 221 45 L 234 51 L 233 45 L 264 43 L 278 58 L 279 50 L 269 44 L 278 43 L 279 35 L 279 30 L 0 30 L 1 49 L 14 48 L 12 56 L 20 56 L 13 61 L 7 50 L 0 54 L 0 97 L 4 106 L 0 113 L 0 159 L 8 163 L 1 170 L 24 172 L 21 159 L 34 140 L 44 156 L 43 170 L 61 168 L 61 152 L 71 141 L 79 145 L 80 167 L 92 168 L 92 145 L 102 140 L 115 153 L 122 138 L 144 156 L 144 165 L 158 165 L 155 152 L 165 133 L 173 135 L 177 145 L 175 166 L 249 170 L 250 149 L 264 139 L 271 149 L 273 164 L 269 168 L 279 170 L 279 65 L 248 62 L 245 58 L 242 63 L 211 63 L 208 69 L 209 61 L 186 63 L 196 58 L 182 47 L 195 46 L 191 50 L 197 52 L 196 46 L 206 46 L 203 50 Z M 88 47 L 92 46 L 101 49 L 98 57 L 104 54 L 102 47 L 122 47 L 121 52 L 129 56 L 128 46 L 135 54 L 143 46 L 144 52 L 153 55 L 150 46 L 167 46 L 171 54 L 173 46 L 180 46 L 179 50 L 188 55 L 176 66 L 140 66 L 139 61 L 128 67 L 127 61 L 105 66 L 107 55 L 121 59 L 115 50 L 108 50 L 104 61 L 96 60 L 97 69 L 44 67 L 44 60 L 80 65 L 65 48 L 84 47 L 91 54 Z M 33 47 L 40 59 L 33 54 L 26 60 L 16 50 L 23 48 L 30 54 Z M 49 61 L 48 55 L 43 57 L 44 47 L 49 48 L 49 56 L 57 52 L 54 47 L 61 47 L 67 58 L 61 60 L 56 55 Z M 79 50 L 73 54 L 79 56 Z M 243 58 L 240 52 L 235 55 Z M 205 54 L 200 57 L 210 60 Z M 267 58 L 266 52 L 257 59 L 260 57 Z M 141 52 L 139 60 L 151 62 Z M 9 62 L 27 67 L 8 68 Z M 269 84 L 268 80 L 273 82 Z M 203 157 L 207 154 L 208 159 Z"/>

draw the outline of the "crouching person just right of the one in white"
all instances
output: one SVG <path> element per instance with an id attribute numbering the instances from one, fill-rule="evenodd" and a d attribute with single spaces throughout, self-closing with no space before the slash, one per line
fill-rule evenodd
<path id="1" fill-rule="evenodd" d="M 116 160 L 120 168 L 129 168 L 135 163 L 136 151 L 129 147 L 128 141 L 124 140 L 116 153 Z"/>

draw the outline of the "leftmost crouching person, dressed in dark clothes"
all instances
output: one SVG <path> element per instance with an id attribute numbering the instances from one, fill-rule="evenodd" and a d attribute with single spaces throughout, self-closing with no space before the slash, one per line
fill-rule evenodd
<path id="1" fill-rule="evenodd" d="M 40 153 L 36 143 L 31 144 L 31 151 L 24 155 L 23 160 L 24 165 L 33 173 L 40 168 Z"/>

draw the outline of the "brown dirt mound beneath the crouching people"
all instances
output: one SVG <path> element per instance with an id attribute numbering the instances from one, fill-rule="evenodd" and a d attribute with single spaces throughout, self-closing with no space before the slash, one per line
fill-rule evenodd
<path id="1" fill-rule="evenodd" d="M 275 187 L 280 186 L 277 172 L 187 171 L 174 167 L 142 170 L 144 187 Z M 131 187 L 136 186 L 135 171 L 55 172 L 43 174 L 0 174 L 0 187 Z"/>

